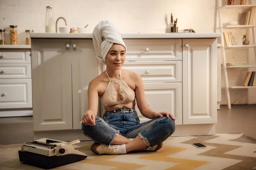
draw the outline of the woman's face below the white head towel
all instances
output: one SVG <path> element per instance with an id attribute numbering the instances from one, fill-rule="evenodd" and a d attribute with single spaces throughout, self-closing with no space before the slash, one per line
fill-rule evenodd
<path id="1" fill-rule="evenodd" d="M 120 69 L 125 62 L 125 47 L 120 44 L 113 44 L 106 56 L 108 67 Z"/>

